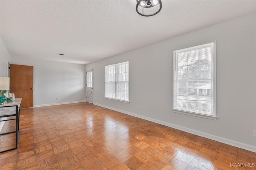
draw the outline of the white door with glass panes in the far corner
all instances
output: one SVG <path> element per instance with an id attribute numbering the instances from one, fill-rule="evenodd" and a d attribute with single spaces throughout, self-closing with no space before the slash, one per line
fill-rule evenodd
<path id="1" fill-rule="evenodd" d="M 92 103 L 93 99 L 93 69 L 86 70 L 86 101 Z"/>

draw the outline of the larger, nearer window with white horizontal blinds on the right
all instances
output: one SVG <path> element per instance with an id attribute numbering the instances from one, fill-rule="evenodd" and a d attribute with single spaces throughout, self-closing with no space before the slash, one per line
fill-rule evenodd
<path id="1" fill-rule="evenodd" d="M 173 109 L 216 116 L 216 42 L 173 53 Z"/>

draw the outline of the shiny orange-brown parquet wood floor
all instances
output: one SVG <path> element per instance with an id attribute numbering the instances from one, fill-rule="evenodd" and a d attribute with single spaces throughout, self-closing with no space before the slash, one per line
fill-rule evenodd
<path id="1" fill-rule="evenodd" d="M 230 163 L 256 153 L 88 103 L 21 109 L 18 149 L 0 154 L 1 170 L 241 168 Z"/>

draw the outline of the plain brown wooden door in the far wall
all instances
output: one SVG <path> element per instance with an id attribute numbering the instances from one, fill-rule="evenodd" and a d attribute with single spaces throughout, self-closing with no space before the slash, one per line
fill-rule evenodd
<path id="1" fill-rule="evenodd" d="M 33 107 L 33 66 L 11 64 L 10 92 L 22 98 L 20 108 Z"/>

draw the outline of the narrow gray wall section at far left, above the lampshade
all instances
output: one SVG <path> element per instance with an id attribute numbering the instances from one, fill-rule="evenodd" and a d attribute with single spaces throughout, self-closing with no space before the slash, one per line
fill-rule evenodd
<path id="1" fill-rule="evenodd" d="M 8 75 L 8 63 L 10 63 L 10 54 L 6 49 L 4 41 L 0 37 L 0 76 L 9 77 Z"/>

